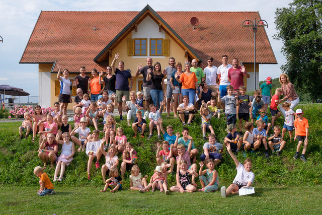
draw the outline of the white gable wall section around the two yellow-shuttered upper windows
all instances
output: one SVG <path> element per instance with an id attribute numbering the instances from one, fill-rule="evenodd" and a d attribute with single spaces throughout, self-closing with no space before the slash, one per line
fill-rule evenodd
<path id="1" fill-rule="evenodd" d="M 150 56 L 150 38 L 157 39 L 165 39 L 166 33 L 161 29 L 159 32 L 159 26 L 151 19 L 151 17 L 147 16 L 138 26 L 137 32 L 135 30 L 132 31 L 132 39 L 136 38 L 147 38 L 147 55 L 146 56 L 132 56 L 132 58 L 146 58 Z M 153 58 L 165 58 L 165 56 L 155 56 Z"/>

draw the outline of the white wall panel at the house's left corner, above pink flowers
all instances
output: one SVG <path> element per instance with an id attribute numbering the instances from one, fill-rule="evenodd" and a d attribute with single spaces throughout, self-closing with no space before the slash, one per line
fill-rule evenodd
<path id="1" fill-rule="evenodd" d="M 39 77 L 39 92 L 38 92 L 38 104 L 41 107 L 50 107 L 50 71 L 38 73 Z"/>

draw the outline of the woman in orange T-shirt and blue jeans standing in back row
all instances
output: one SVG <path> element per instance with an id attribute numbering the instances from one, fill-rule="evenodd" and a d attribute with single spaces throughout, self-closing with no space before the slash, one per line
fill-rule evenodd
<path id="1" fill-rule="evenodd" d="M 195 103 L 195 93 L 198 93 L 198 79 L 196 74 L 190 71 L 191 64 L 185 63 L 186 72 L 176 78 L 177 82 L 182 83 L 182 96 L 189 96 L 189 101 Z"/>

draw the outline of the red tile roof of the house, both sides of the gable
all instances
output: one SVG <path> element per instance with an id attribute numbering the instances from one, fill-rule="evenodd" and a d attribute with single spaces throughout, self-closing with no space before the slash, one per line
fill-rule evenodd
<path id="1" fill-rule="evenodd" d="M 222 54 L 254 62 L 254 34 L 250 28 L 241 28 L 241 23 L 245 19 L 259 20 L 258 12 L 156 13 L 202 58 L 202 67 L 208 56 L 219 65 Z M 20 63 L 57 61 L 71 72 L 78 71 L 80 65 L 101 70 L 107 62 L 97 64 L 93 59 L 138 14 L 42 11 Z M 194 31 L 191 17 L 200 21 Z M 257 62 L 277 63 L 264 30 L 259 29 L 256 37 Z"/>

